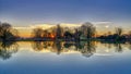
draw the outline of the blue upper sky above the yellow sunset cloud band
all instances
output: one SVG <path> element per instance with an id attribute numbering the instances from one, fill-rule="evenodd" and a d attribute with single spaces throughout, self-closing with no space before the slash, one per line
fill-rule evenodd
<path id="1" fill-rule="evenodd" d="M 130 7 L 131 0 L 0 0 L 0 21 L 19 26 L 84 22 L 129 25 Z"/>

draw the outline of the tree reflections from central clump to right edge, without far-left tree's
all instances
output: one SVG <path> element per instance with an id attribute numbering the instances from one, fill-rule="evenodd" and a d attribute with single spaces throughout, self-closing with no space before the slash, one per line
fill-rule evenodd
<path id="1" fill-rule="evenodd" d="M 114 52 L 122 52 L 126 47 L 131 49 L 130 42 L 107 42 L 107 41 L 34 41 L 32 47 L 35 51 L 49 50 L 60 54 L 62 52 L 78 51 L 83 57 L 90 58 L 98 50 L 97 47 L 105 47 L 106 52 L 114 49 Z"/>

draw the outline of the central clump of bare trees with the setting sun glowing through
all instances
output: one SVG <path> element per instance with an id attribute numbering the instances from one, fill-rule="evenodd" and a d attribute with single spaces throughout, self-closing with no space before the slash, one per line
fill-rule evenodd
<path id="1" fill-rule="evenodd" d="M 56 25 L 48 29 L 35 28 L 32 37 L 35 39 L 63 39 L 81 40 L 95 37 L 96 27 L 91 23 L 85 23 L 81 27 L 62 27 Z"/>

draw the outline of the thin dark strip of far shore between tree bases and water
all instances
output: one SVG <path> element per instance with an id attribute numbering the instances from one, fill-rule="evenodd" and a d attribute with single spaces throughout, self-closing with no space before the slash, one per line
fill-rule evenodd
<path id="1" fill-rule="evenodd" d="M 51 38 L 40 38 L 40 39 L 35 39 L 35 38 L 17 38 L 17 39 L 10 39 L 10 40 L 0 40 L 0 41 L 107 41 L 107 42 L 131 42 L 131 39 L 122 39 L 122 40 L 116 40 L 116 39 L 51 39 Z"/>

